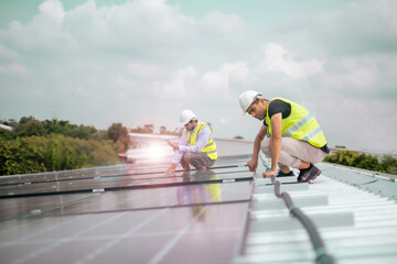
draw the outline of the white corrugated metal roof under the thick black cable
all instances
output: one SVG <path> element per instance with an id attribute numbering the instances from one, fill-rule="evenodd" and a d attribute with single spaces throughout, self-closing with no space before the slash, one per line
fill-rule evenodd
<path id="1" fill-rule="evenodd" d="M 396 263 L 396 183 L 374 179 L 363 170 L 320 167 L 323 173 L 314 183 L 285 177 L 281 189 L 314 222 L 326 252 L 336 263 Z M 246 237 L 235 263 L 314 263 L 307 231 L 275 196 L 270 179 L 255 182 Z"/>

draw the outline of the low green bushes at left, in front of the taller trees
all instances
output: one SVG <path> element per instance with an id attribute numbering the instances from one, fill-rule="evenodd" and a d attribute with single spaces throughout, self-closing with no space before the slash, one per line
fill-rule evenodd
<path id="1" fill-rule="evenodd" d="M 46 136 L 0 138 L 0 175 L 75 169 L 119 162 L 112 142 Z"/>

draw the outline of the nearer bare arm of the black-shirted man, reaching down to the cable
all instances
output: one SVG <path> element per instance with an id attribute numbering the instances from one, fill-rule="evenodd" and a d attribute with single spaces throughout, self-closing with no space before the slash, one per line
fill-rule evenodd
<path id="1" fill-rule="evenodd" d="M 270 122 L 271 122 L 271 138 L 270 138 L 271 168 L 262 174 L 264 178 L 268 178 L 268 177 L 270 177 L 270 175 L 276 176 L 276 174 L 277 174 L 277 164 L 278 164 L 278 160 L 280 157 L 281 140 L 282 140 L 281 120 L 282 120 L 282 114 L 280 112 L 275 113 L 270 119 Z"/>

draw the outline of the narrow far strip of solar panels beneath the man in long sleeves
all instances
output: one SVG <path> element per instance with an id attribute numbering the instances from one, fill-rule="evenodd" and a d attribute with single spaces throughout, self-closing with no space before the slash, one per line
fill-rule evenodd
<path id="1" fill-rule="evenodd" d="M 239 161 L 239 160 L 237 160 Z M 239 182 L 253 179 L 244 164 L 230 165 L 217 163 L 210 172 L 192 170 L 176 172 L 165 175 L 165 166 L 133 167 L 131 165 L 114 166 L 111 168 L 84 169 L 76 173 L 42 174 L 28 176 L 28 179 L 8 178 L 0 185 L 1 197 L 25 197 L 36 195 L 101 193 L 105 190 L 125 190 L 147 187 L 180 186 L 211 184 L 223 182 Z"/>

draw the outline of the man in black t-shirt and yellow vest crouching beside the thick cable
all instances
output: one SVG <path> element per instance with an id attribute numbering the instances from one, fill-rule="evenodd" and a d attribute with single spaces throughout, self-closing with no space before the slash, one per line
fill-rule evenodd
<path id="1" fill-rule="evenodd" d="M 264 121 L 254 142 L 253 157 L 247 163 L 249 170 L 256 172 L 261 150 L 271 158 L 270 169 L 262 173 L 265 178 L 294 176 L 291 168 L 300 170 L 298 182 L 303 183 L 321 174 L 313 164 L 322 162 L 330 150 L 318 121 L 307 109 L 285 98 L 264 99 L 255 90 L 244 91 L 239 105 L 244 113 Z"/>

